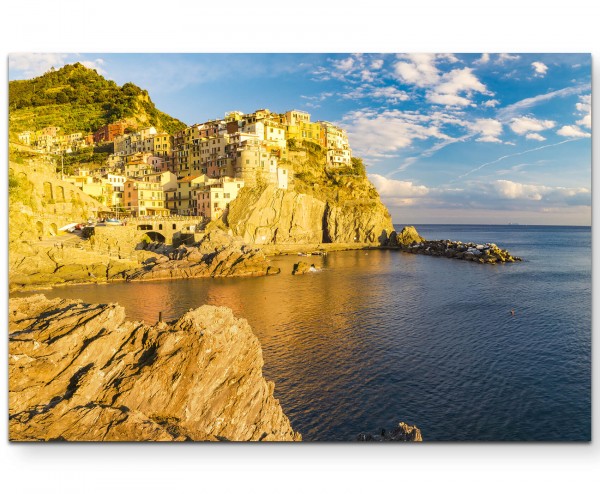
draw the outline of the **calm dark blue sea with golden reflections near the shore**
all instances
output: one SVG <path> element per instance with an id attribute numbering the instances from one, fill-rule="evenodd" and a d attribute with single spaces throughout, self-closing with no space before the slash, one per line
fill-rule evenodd
<path id="1" fill-rule="evenodd" d="M 396 251 L 310 258 L 319 273 L 56 288 L 118 301 L 130 319 L 208 303 L 248 319 L 293 427 L 352 440 L 397 422 L 425 440 L 591 439 L 591 229 L 416 225 L 427 239 L 495 242 L 490 266 Z M 511 309 L 515 315 L 510 314 Z"/>

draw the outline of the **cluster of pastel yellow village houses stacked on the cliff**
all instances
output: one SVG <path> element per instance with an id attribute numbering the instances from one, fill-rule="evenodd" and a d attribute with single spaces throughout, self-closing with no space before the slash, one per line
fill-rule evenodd
<path id="1" fill-rule="evenodd" d="M 64 156 L 90 146 L 113 146 L 96 170 L 81 167 L 66 182 L 97 199 L 112 217 L 197 216 L 219 218 L 244 186 L 294 188 L 290 159 L 298 146 L 319 145 L 328 168 L 351 166 L 346 131 L 309 113 L 267 109 L 232 111 L 224 119 L 191 125 L 173 134 L 155 127 L 130 131 L 127 123 L 107 124 L 93 134 L 64 135 L 60 127 L 18 134 L 22 144 Z"/>

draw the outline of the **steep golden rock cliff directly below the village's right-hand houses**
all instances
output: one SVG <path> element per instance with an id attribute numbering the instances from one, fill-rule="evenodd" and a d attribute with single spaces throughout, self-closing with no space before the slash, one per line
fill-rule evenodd
<path id="1" fill-rule="evenodd" d="M 234 235 L 263 245 L 387 242 L 392 219 L 360 160 L 328 168 L 315 144 L 290 156 L 288 190 L 245 187 L 230 203 L 225 222 Z"/>

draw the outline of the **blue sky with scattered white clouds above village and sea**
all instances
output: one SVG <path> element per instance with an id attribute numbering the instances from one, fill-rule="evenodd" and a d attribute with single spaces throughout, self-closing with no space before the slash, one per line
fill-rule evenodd
<path id="1" fill-rule="evenodd" d="M 14 53 L 79 61 L 188 125 L 259 108 L 345 128 L 394 223 L 591 225 L 591 56 Z"/>

